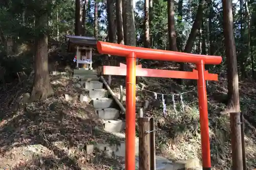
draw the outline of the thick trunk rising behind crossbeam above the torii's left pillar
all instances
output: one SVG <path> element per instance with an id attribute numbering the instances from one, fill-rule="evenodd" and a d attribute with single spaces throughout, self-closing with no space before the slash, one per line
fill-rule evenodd
<path id="1" fill-rule="evenodd" d="M 127 45 L 136 46 L 133 0 L 126 0 L 125 2 L 126 3 L 124 8 L 124 11 L 125 11 L 124 35 L 126 35 Z"/>

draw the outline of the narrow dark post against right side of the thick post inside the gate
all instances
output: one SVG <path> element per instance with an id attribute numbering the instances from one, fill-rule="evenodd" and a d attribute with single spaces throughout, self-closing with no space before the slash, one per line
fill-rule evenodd
<path id="1" fill-rule="evenodd" d="M 154 118 L 150 118 L 150 164 L 151 170 L 156 170 L 156 140 Z"/>

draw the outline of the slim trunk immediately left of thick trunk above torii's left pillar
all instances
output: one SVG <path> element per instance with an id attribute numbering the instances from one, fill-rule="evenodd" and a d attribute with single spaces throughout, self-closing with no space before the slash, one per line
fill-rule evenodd
<path id="1" fill-rule="evenodd" d="M 117 43 L 124 44 L 122 0 L 116 0 Z"/>

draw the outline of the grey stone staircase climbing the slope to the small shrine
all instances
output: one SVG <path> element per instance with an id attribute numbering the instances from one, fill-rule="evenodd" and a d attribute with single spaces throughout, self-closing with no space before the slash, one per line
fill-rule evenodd
<path id="1" fill-rule="evenodd" d="M 74 69 L 73 78 L 79 80 L 82 88 L 80 102 L 90 102 L 95 108 L 96 114 L 102 119 L 104 131 L 110 132 L 119 138 L 125 139 L 125 121 L 118 119 L 120 110 L 116 107 L 113 99 L 108 98 L 108 90 L 103 88 L 99 81 L 96 70 Z M 145 104 L 144 104 L 145 105 Z M 148 104 L 146 104 L 148 105 Z M 136 146 L 136 169 L 138 169 L 139 140 L 135 139 Z M 100 150 L 108 157 L 125 157 L 125 140 L 120 144 L 89 144 L 86 151 L 88 154 L 94 150 Z M 175 163 L 163 157 L 156 157 L 156 170 L 186 169 L 185 164 Z"/>

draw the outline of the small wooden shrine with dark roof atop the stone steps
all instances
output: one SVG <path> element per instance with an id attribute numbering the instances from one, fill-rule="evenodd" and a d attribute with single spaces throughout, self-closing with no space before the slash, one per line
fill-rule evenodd
<path id="1" fill-rule="evenodd" d="M 94 37 L 66 35 L 69 38 L 68 52 L 76 53 L 77 69 L 92 68 L 92 50 L 96 48 L 97 39 Z"/>

